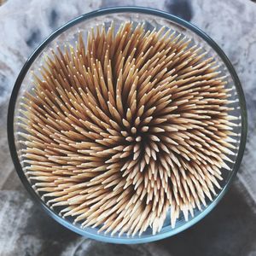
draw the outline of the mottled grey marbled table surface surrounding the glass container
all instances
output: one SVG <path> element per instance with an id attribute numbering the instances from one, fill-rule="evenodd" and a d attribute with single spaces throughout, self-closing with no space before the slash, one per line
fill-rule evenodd
<path id="1" fill-rule="evenodd" d="M 74 17 L 94 9 L 162 9 L 207 32 L 230 58 L 247 100 L 247 147 L 224 199 L 183 233 L 143 245 L 113 245 L 66 230 L 31 200 L 9 155 L 9 96 L 32 50 Z M 9 0 L 0 7 L 0 255 L 256 255 L 256 3 L 250 0 Z"/>

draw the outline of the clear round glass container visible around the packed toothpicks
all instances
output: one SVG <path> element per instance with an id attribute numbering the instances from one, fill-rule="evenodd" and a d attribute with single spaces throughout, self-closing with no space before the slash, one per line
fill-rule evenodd
<path id="1" fill-rule="evenodd" d="M 213 201 L 207 201 L 207 207 L 202 206 L 202 211 L 195 210 L 195 217 L 189 218 L 189 221 L 185 221 L 183 217 L 177 219 L 175 228 L 172 229 L 170 224 L 170 218 L 166 218 L 160 233 L 152 235 L 152 230 L 148 229 L 143 232 L 142 236 L 110 236 L 97 233 L 97 228 L 85 228 L 82 229 L 79 224 L 73 224 L 73 218 L 62 218 L 59 216 L 58 212 L 61 211 L 60 208 L 55 208 L 52 210 L 47 204 L 41 199 L 41 195 L 32 189 L 33 183 L 29 181 L 26 177 L 24 170 L 24 164 L 22 164 L 22 156 L 20 150 L 24 147 L 19 142 L 18 132 L 20 127 L 17 125 L 17 117 L 20 115 L 20 99 L 27 90 L 30 90 L 30 80 L 31 71 L 35 67 L 39 67 L 43 61 L 44 54 L 49 53 L 50 49 L 54 48 L 55 44 L 65 44 L 65 42 L 74 42 L 76 35 L 79 31 L 87 31 L 91 26 L 96 24 L 105 23 L 108 27 L 111 21 L 119 25 L 122 21 L 132 20 L 135 23 L 145 22 L 145 28 L 152 30 L 154 27 L 159 29 L 161 26 L 170 27 L 177 32 L 182 33 L 184 36 L 193 38 L 192 44 L 199 44 L 203 49 L 206 49 L 209 55 L 218 61 L 221 65 L 221 71 L 227 75 L 227 87 L 235 88 L 231 95 L 231 99 L 235 102 L 232 103 L 234 110 L 232 115 L 238 117 L 237 126 L 234 132 L 237 134 L 237 143 L 235 149 L 235 155 L 231 156 L 232 163 L 227 163 L 230 166 L 231 171 L 223 170 L 223 181 L 220 182 L 222 189 L 218 190 L 218 195 L 214 197 Z M 44 40 L 42 44 L 39 45 L 30 58 L 26 61 L 26 64 L 20 71 L 18 79 L 16 80 L 14 90 L 12 92 L 10 102 L 9 102 L 9 113 L 8 113 L 8 137 L 9 137 L 9 149 L 12 155 L 12 159 L 15 164 L 15 169 L 20 177 L 20 180 L 30 192 L 33 198 L 38 201 L 44 208 L 45 212 L 49 214 L 50 217 L 54 218 L 57 222 L 62 224 L 74 232 L 79 233 L 82 236 L 87 236 L 99 241 L 108 241 L 114 243 L 142 243 L 148 241 L 156 241 L 168 236 L 173 236 L 183 230 L 188 229 L 193 224 L 197 223 L 201 218 L 204 218 L 208 212 L 212 210 L 224 196 L 227 189 L 230 187 L 230 183 L 236 176 L 236 172 L 241 163 L 242 154 L 244 152 L 246 137 L 247 137 L 247 113 L 246 113 L 246 103 L 245 98 L 241 89 L 241 84 L 236 75 L 236 71 L 230 64 L 227 56 L 218 47 L 216 43 L 212 41 L 211 38 L 202 32 L 196 26 L 190 24 L 189 22 L 177 18 L 176 16 L 161 12 L 154 9 L 138 8 L 138 7 L 120 7 L 120 8 L 110 8 L 101 9 L 91 12 L 86 15 L 81 15 L 78 18 L 68 22 L 66 25 L 61 26 L 53 32 L 49 38 Z M 168 214 L 167 214 L 168 216 Z"/>

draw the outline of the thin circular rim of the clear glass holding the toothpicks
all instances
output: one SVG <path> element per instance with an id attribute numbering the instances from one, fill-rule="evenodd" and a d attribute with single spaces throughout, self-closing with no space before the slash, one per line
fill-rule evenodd
<path id="1" fill-rule="evenodd" d="M 14 134 L 14 118 L 15 118 L 15 104 L 17 100 L 17 96 L 20 90 L 20 85 L 23 82 L 23 79 L 26 76 L 27 71 L 32 66 L 32 63 L 36 60 L 38 55 L 44 50 L 47 44 L 49 44 L 53 39 L 55 39 L 57 36 L 59 36 L 62 32 L 67 31 L 72 26 L 75 26 L 79 24 L 80 22 L 84 20 L 88 20 L 91 18 L 95 18 L 97 16 L 101 15 L 109 15 L 109 14 L 117 14 L 117 13 L 137 13 L 137 14 L 145 14 L 145 15 L 154 15 L 158 16 L 160 18 L 164 18 L 166 20 L 171 20 L 174 23 L 177 23 L 178 25 L 184 26 L 188 28 L 190 31 L 195 32 L 200 38 L 202 38 L 207 44 L 209 44 L 212 49 L 215 50 L 215 52 L 218 54 L 218 56 L 221 58 L 222 61 L 224 61 L 225 66 L 230 72 L 230 75 L 234 81 L 234 84 L 236 86 L 236 91 L 238 94 L 239 104 L 241 108 L 241 141 L 238 149 L 238 154 L 236 157 L 236 162 L 234 164 L 234 168 L 231 171 L 228 182 L 224 185 L 223 189 L 219 192 L 218 196 L 215 197 L 215 199 L 205 208 L 202 212 L 200 212 L 196 217 L 190 219 L 185 224 L 173 229 L 166 231 L 164 233 L 158 233 L 154 236 L 146 236 L 146 237 L 111 237 L 111 236 L 104 236 L 101 234 L 93 234 L 89 231 L 82 230 L 78 226 L 68 222 L 66 219 L 59 216 L 56 212 L 51 210 L 46 203 L 39 197 L 37 192 L 32 189 L 31 184 L 28 182 L 25 173 L 22 170 L 22 167 L 20 165 L 20 160 L 18 158 L 18 154 L 15 147 L 15 134 Z M 245 102 L 245 96 L 243 93 L 243 90 L 241 88 L 241 83 L 238 79 L 238 76 L 236 74 L 236 71 L 232 64 L 230 63 L 228 57 L 224 54 L 224 51 L 219 48 L 218 44 L 216 44 L 212 38 L 210 38 L 205 32 L 202 32 L 200 28 L 197 26 L 191 24 L 189 21 L 183 20 L 175 15 L 171 15 L 169 13 L 166 13 L 164 11 L 160 11 L 158 9 L 150 9 L 150 8 L 144 8 L 144 7 L 137 7 L 137 6 L 122 6 L 122 7 L 112 7 L 107 9 L 98 9 L 96 11 L 92 11 L 90 13 L 80 15 L 79 17 L 68 21 L 65 25 L 57 28 L 54 32 L 52 32 L 48 38 L 46 38 L 41 44 L 39 44 L 38 48 L 35 49 L 32 52 L 32 55 L 27 59 L 26 63 L 22 67 L 16 81 L 14 89 L 12 90 L 10 100 L 9 100 L 9 109 L 8 109 L 8 119 L 7 119 L 7 130 L 8 130 L 8 141 L 9 141 L 9 151 L 13 160 L 13 163 L 15 165 L 15 170 L 20 177 L 21 182 L 25 186 L 26 190 L 29 192 L 30 195 L 32 195 L 32 198 L 37 201 L 41 207 L 44 208 L 44 211 L 48 213 L 48 215 L 51 218 L 54 218 L 59 224 L 65 226 L 67 229 L 72 230 L 76 233 L 78 233 L 81 236 L 87 236 L 89 238 L 98 240 L 98 241 L 107 241 L 107 242 L 113 242 L 113 243 L 123 243 L 123 244 L 134 244 L 134 243 L 143 243 L 143 242 L 149 242 L 149 241 L 158 241 L 160 239 L 174 236 L 177 233 L 188 229 L 192 225 L 196 224 L 201 218 L 204 218 L 209 212 L 212 211 L 212 209 L 218 204 L 218 202 L 223 198 L 224 194 L 227 192 L 227 190 L 230 188 L 230 184 L 233 181 L 234 177 L 236 177 L 236 172 L 238 171 L 238 168 L 241 164 L 242 155 L 244 153 L 246 140 L 247 140 L 247 108 L 246 108 L 246 102 Z"/>

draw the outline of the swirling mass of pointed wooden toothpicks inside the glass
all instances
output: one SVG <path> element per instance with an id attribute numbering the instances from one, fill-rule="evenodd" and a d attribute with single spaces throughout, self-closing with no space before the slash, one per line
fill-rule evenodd
<path id="1" fill-rule="evenodd" d="M 232 89 L 180 33 L 118 29 L 96 26 L 45 57 L 20 104 L 22 163 L 63 218 L 155 234 L 217 195 L 236 143 Z"/>

